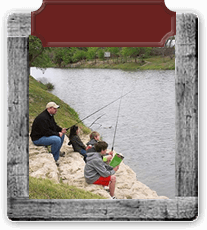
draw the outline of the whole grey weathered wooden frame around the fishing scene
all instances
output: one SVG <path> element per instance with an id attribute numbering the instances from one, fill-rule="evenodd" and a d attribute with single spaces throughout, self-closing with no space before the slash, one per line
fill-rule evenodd
<path id="1" fill-rule="evenodd" d="M 7 20 L 7 215 L 38 220 L 193 220 L 198 215 L 196 16 L 176 14 L 176 198 L 30 200 L 29 61 L 31 14 Z"/>

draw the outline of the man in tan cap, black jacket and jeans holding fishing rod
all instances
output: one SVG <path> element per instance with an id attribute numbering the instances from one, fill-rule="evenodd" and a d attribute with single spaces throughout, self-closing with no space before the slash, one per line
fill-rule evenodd
<path id="1" fill-rule="evenodd" d="M 51 145 L 51 151 L 57 165 L 59 165 L 60 148 L 67 132 L 66 128 L 59 127 L 54 119 L 59 107 L 55 102 L 49 102 L 46 105 L 46 110 L 34 119 L 30 135 L 33 143 L 37 146 Z"/>

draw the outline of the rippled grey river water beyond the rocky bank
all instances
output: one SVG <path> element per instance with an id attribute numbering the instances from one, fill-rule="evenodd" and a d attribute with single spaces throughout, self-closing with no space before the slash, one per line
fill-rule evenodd
<path id="1" fill-rule="evenodd" d="M 51 82 L 52 93 L 69 104 L 80 119 L 116 98 L 122 98 L 114 150 L 137 179 L 158 195 L 175 196 L 175 71 L 122 71 L 110 69 L 58 69 L 32 67 L 30 74 Z M 119 102 L 84 121 L 112 146 Z"/>

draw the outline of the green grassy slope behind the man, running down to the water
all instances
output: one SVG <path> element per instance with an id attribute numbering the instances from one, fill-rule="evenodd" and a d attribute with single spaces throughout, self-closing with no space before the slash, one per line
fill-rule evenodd
<path id="1" fill-rule="evenodd" d="M 45 110 L 45 106 L 48 102 L 54 101 L 60 108 L 55 115 L 55 121 L 61 127 L 68 128 L 74 125 L 79 121 L 79 116 L 77 112 L 71 108 L 64 101 L 60 100 L 58 97 L 54 96 L 50 92 L 48 92 L 47 87 L 36 81 L 32 76 L 29 77 L 29 122 L 30 122 L 30 130 L 31 124 L 34 118 L 40 114 L 43 110 Z M 89 128 L 87 128 L 83 123 L 79 124 L 82 127 L 82 130 L 85 134 L 91 132 Z"/>

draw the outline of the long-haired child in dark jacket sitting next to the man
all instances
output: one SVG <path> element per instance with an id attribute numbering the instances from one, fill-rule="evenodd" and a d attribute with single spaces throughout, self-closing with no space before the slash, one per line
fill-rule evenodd
<path id="1" fill-rule="evenodd" d="M 84 161 L 86 162 L 86 146 L 83 144 L 83 142 L 81 141 L 80 137 L 78 136 L 78 133 L 80 132 L 78 126 L 73 125 L 70 128 L 70 134 L 69 134 L 69 140 L 70 142 L 68 143 L 68 145 L 73 146 L 73 150 L 75 152 L 79 152 L 84 158 Z"/>

